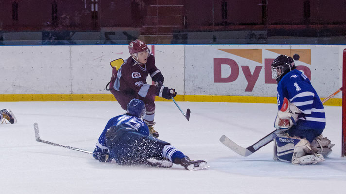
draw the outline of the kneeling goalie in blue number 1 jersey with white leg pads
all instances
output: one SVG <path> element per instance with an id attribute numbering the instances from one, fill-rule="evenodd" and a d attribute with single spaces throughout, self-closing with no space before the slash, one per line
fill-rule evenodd
<path id="1" fill-rule="evenodd" d="M 273 135 L 273 159 L 293 164 L 316 164 L 324 161 L 334 144 L 322 136 L 326 125 L 322 102 L 309 78 L 296 69 L 294 60 L 278 56 L 272 63 L 277 81 L 278 113 Z"/>

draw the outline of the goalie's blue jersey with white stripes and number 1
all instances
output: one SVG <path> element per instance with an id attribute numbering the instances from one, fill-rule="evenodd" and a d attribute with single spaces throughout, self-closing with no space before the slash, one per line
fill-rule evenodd
<path id="1" fill-rule="evenodd" d="M 286 97 L 303 113 L 298 124 L 311 129 L 324 129 L 326 117 L 323 104 L 306 75 L 294 69 L 284 75 L 277 84 L 277 105 L 281 109 Z"/>

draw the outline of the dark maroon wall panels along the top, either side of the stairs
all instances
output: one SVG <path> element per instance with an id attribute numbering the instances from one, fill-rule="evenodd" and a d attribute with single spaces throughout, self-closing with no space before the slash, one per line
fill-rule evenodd
<path id="1" fill-rule="evenodd" d="M 100 27 L 138 27 L 134 23 L 131 2 L 134 0 L 98 0 L 97 19 L 92 19 L 92 0 L 0 0 L 0 30 L 41 31 L 99 30 Z M 187 18 L 187 28 L 208 29 L 212 25 L 269 25 L 280 24 L 338 24 L 346 23 L 345 0 L 181 0 Z M 304 16 L 304 2 L 310 2 L 310 14 Z M 17 20 L 13 19 L 13 2 L 18 3 Z M 57 22 L 52 24 L 52 4 L 57 4 Z M 143 6 L 145 17 L 152 1 L 136 0 Z M 268 5 L 263 5 L 268 2 Z M 222 18 L 222 4 L 226 3 L 226 19 Z M 317 4 L 319 3 L 319 4 Z M 265 12 L 263 12 L 263 6 Z M 95 9 L 95 8 L 94 8 Z M 225 12 L 224 12 L 225 14 Z M 53 22 L 54 23 L 54 22 Z M 140 23 L 139 23 L 140 27 Z"/>

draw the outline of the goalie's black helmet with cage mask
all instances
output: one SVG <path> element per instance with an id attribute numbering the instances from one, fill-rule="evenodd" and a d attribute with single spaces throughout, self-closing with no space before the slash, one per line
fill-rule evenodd
<path id="1" fill-rule="evenodd" d="M 277 83 L 280 82 L 282 77 L 295 69 L 294 61 L 292 57 L 287 55 L 280 55 L 274 59 L 272 63 L 272 78 L 274 78 Z"/>

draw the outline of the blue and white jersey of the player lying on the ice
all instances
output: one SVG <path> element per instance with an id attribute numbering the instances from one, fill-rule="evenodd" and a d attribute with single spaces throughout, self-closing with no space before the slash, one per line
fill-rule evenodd
<path id="1" fill-rule="evenodd" d="M 135 129 L 138 133 L 142 135 L 149 135 L 148 126 L 141 119 L 139 119 L 136 116 L 131 116 L 127 114 L 119 115 L 111 118 L 108 121 L 107 125 L 104 127 L 104 130 L 102 131 L 99 137 L 98 142 L 96 143 L 96 149 L 94 152 L 108 152 L 108 146 L 105 142 L 106 132 L 112 126 L 117 126 L 120 124 L 128 125 L 129 127 Z"/>

